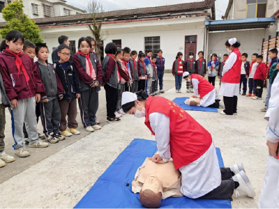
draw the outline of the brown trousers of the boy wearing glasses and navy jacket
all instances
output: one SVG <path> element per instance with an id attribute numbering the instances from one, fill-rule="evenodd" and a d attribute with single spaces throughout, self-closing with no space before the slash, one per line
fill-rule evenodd
<path id="1" fill-rule="evenodd" d="M 67 119 L 68 116 L 68 127 L 77 128 L 78 124 L 75 118 L 77 118 L 77 98 L 72 100 L 59 100 L 59 106 L 61 111 L 61 122 L 60 131 L 67 129 Z"/>

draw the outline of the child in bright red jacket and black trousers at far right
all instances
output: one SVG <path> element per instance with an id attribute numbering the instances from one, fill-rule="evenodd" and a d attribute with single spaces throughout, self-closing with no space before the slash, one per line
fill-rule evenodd
<path id="1" fill-rule="evenodd" d="M 257 70 L 254 75 L 254 82 L 257 88 L 256 96 L 253 100 L 262 100 L 262 89 L 264 88 L 264 79 L 266 79 L 266 64 L 262 62 L 263 56 L 257 56 Z"/>

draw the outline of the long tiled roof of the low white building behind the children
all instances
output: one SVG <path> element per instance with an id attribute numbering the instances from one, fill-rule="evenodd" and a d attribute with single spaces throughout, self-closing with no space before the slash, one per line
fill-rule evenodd
<path id="1" fill-rule="evenodd" d="M 105 13 L 98 13 L 98 17 L 107 18 L 125 18 L 133 16 L 144 16 L 144 15 L 160 15 L 165 13 L 183 13 L 197 10 L 204 10 L 209 8 L 214 8 L 215 0 L 205 0 L 192 3 L 179 3 L 174 5 L 167 6 L 156 6 L 156 7 L 147 7 L 147 8 L 137 8 L 129 10 L 115 10 Z M 213 13 L 215 19 L 215 13 Z M 60 17 L 45 17 L 33 19 L 36 21 L 36 24 L 53 24 L 53 23 L 63 23 L 63 22 L 77 22 L 77 21 L 86 21 L 89 19 L 88 14 L 82 15 L 68 15 Z"/>

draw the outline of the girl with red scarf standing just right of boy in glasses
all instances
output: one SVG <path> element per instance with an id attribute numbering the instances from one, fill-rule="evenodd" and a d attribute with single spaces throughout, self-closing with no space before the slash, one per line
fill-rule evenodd
<path id="1" fill-rule="evenodd" d="M 100 82 L 102 67 L 90 53 L 91 40 L 82 37 L 78 41 L 78 51 L 73 56 L 73 63 L 80 78 L 81 95 L 78 99 L 82 125 L 87 132 L 100 130 L 96 122 L 96 113 L 99 107 Z"/>

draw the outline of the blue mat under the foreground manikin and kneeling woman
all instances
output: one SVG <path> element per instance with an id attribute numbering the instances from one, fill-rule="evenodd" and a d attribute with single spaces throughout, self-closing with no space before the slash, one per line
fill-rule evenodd
<path id="1" fill-rule="evenodd" d="M 220 149 L 216 148 L 216 151 L 219 165 L 224 167 Z M 146 157 L 152 157 L 156 152 L 156 141 L 134 139 L 75 208 L 144 208 L 140 194 L 132 192 L 131 183 Z M 194 200 L 181 196 L 163 200 L 160 208 L 232 208 L 232 205 L 229 200 Z"/>

